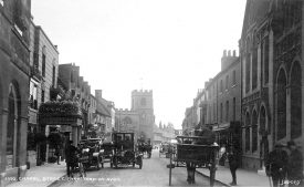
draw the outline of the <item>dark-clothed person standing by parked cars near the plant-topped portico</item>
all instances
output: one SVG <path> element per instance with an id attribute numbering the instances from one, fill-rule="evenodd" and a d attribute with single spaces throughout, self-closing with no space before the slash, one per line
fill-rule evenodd
<path id="1" fill-rule="evenodd" d="M 65 163 L 66 163 L 66 175 L 71 177 L 74 170 L 74 162 L 77 148 L 73 146 L 73 141 L 69 141 L 65 148 Z"/>

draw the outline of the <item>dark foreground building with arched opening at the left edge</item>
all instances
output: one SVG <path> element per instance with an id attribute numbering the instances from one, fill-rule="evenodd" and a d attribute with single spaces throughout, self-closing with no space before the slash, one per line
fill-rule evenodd
<path id="1" fill-rule="evenodd" d="M 0 186 L 27 170 L 30 0 L 0 1 Z"/>

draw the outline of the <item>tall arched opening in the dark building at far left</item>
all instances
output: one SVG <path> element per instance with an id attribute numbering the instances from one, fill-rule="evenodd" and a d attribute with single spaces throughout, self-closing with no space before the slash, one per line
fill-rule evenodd
<path id="1" fill-rule="evenodd" d="M 7 124 L 7 168 L 17 165 L 18 102 L 13 84 L 9 87 L 8 124 Z"/>

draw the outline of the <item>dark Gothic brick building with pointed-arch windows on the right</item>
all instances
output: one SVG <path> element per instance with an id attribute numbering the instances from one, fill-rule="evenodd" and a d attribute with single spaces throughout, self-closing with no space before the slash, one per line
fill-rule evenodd
<path id="1" fill-rule="evenodd" d="M 243 165 L 263 167 L 275 143 L 303 153 L 303 1 L 247 1 L 242 59 Z"/>

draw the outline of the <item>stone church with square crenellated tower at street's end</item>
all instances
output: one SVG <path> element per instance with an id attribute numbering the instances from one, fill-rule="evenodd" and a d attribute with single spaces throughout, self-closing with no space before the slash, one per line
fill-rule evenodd
<path id="1" fill-rule="evenodd" d="M 153 91 L 133 91 L 132 108 L 116 110 L 115 129 L 118 132 L 134 132 L 136 138 L 154 138 L 154 102 Z"/>

